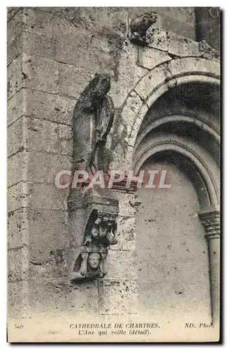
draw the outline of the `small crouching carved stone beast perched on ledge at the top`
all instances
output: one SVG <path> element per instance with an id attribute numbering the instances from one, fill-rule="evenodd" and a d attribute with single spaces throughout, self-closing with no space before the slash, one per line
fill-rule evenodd
<path id="1" fill-rule="evenodd" d="M 130 24 L 131 34 L 134 38 L 143 38 L 146 34 L 147 29 L 157 21 L 157 14 L 154 11 L 144 13 L 136 20 L 132 20 Z"/>

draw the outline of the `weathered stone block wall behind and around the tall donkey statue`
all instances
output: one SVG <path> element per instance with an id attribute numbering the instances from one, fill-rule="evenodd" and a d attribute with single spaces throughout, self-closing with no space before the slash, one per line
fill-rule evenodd
<path id="1" fill-rule="evenodd" d="M 129 22 L 147 9 L 8 8 L 8 274 L 12 316 L 21 315 L 22 309 L 27 314 L 27 304 L 37 311 L 58 312 L 60 308 L 104 314 L 119 312 L 124 302 L 127 309 L 133 309 L 130 302 L 134 298 L 136 304 L 136 237 L 130 235 L 130 226 L 135 223 L 131 214 L 119 215 L 119 234 L 126 234 L 129 241 L 127 248 L 122 244 L 117 254 L 111 251 L 108 257 L 110 280 L 80 287 L 68 281 L 68 190 L 54 186 L 54 174 L 71 169 L 73 107 L 94 73 L 110 74 L 116 114 L 147 74 L 146 65 L 138 64 L 138 47 L 129 40 Z M 160 14 L 156 27 L 196 38 L 193 8 L 152 9 Z M 125 198 L 121 200 L 125 209 Z M 131 199 L 126 202 L 130 209 Z M 125 272 L 124 264 L 131 271 Z M 115 276 L 116 270 L 119 274 Z M 130 297 L 125 288 L 131 290 Z M 112 299 L 115 304 L 118 299 L 117 308 Z"/>

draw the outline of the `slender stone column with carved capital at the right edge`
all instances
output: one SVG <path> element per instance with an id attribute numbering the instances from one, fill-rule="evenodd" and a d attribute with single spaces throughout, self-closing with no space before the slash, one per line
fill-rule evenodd
<path id="1" fill-rule="evenodd" d="M 210 208 L 198 214 L 209 246 L 212 323 L 219 325 L 220 315 L 220 211 Z"/>

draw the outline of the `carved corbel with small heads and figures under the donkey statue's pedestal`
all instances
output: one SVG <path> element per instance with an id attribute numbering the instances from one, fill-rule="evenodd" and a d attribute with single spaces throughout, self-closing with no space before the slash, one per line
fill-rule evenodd
<path id="1" fill-rule="evenodd" d="M 103 278 L 106 274 L 105 260 L 110 245 L 117 244 L 117 214 L 94 209 L 91 212 L 85 236 L 82 242 L 82 252 L 75 261 L 71 280 Z"/>

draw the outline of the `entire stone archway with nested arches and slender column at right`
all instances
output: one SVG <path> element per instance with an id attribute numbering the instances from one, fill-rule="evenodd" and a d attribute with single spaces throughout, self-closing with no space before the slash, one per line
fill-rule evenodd
<path id="1" fill-rule="evenodd" d="M 173 59 L 156 66 L 142 77 L 126 98 L 122 108 L 121 119 L 124 131 L 122 131 L 122 125 L 115 128 L 115 133 L 123 135 L 122 155 L 119 155 L 121 150 L 118 147 L 117 158 L 121 158 L 123 168 L 138 172 L 147 159 L 166 152 L 169 158 L 177 154 L 178 159 L 181 159 L 182 172 L 187 168 L 186 176 L 191 182 L 191 193 L 194 188 L 198 200 L 196 209 L 196 216 L 200 218 L 198 224 L 200 230 L 203 231 L 202 226 L 205 228 L 205 237 L 209 246 L 212 322 L 218 324 L 219 108 L 217 107 L 217 111 L 212 108 L 203 110 L 202 106 L 206 101 L 201 101 L 193 108 L 194 110 L 172 108 L 169 112 L 167 107 L 162 112 L 154 112 L 157 101 L 159 103 L 161 98 L 170 91 L 177 95 L 179 88 L 186 91 L 196 86 L 201 91 L 217 89 L 215 94 L 218 100 L 219 63 L 217 61 L 198 57 Z M 203 94 L 198 95 L 203 100 Z M 216 104 L 218 104 L 217 100 L 214 101 Z M 184 135 L 180 135 L 181 123 L 185 126 Z M 178 130 L 178 134 L 169 134 L 173 133 L 174 128 Z M 189 139 L 190 132 L 195 136 L 193 142 Z M 205 139 L 208 140 L 207 144 L 203 142 Z M 196 226 L 194 228 L 196 229 Z M 141 233 L 139 238 L 142 239 Z"/>

